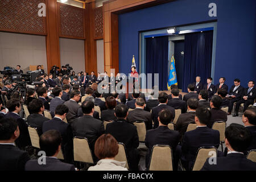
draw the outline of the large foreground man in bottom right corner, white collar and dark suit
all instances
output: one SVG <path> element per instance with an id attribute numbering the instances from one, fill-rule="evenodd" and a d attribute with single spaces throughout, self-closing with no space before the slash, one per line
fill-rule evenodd
<path id="1" fill-rule="evenodd" d="M 205 162 L 201 171 L 255 171 L 256 163 L 243 155 L 250 144 L 250 132 L 242 125 L 232 123 L 225 131 L 225 145 L 228 155 L 217 157 L 216 163 Z"/>

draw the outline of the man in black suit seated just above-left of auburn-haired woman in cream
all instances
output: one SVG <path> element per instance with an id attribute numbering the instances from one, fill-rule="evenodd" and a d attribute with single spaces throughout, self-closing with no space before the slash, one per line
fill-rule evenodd
<path id="1" fill-rule="evenodd" d="M 104 134 L 104 125 L 98 119 L 93 118 L 94 104 L 92 101 L 82 102 L 82 113 L 84 115 L 76 118 L 73 122 L 73 133 L 76 137 L 85 137 L 94 155 L 94 143 Z"/>

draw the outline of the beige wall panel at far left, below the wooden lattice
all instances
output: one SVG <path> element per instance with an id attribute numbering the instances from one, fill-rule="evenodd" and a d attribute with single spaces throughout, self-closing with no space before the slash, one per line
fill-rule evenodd
<path id="1" fill-rule="evenodd" d="M 0 70 L 21 65 L 23 72 L 30 65 L 43 65 L 47 72 L 46 37 L 0 32 Z"/>

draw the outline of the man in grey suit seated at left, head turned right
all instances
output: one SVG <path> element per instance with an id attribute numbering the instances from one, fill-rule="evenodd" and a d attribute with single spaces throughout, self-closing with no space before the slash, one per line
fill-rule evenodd
<path id="1" fill-rule="evenodd" d="M 64 105 L 68 107 L 67 121 L 72 123 L 74 119 L 78 118 L 77 111 L 81 107 L 77 102 L 79 102 L 81 94 L 79 90 L 73 90 L 70 94 L 70 100 L 64 102 Z"/>

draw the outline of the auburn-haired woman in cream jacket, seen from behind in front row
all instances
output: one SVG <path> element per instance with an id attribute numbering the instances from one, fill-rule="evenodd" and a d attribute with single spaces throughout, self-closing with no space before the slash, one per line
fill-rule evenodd
<path id="1" fill-rule="evenodd" d="M 99 137 L 94 146 L 94 154 L 100 159 L 96 166 L 89 167 L 88 171 L 128 171 L 126 162 L 114 160 L 118 154 L 117 140 L 110 134 Z"/>

